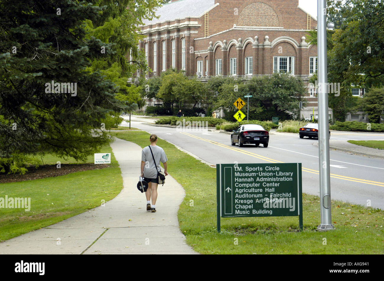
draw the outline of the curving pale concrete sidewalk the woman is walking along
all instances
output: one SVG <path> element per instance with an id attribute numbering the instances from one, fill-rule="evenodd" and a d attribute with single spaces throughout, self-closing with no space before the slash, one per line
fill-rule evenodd
<path id="1" fill-rule="evenodd" d="M 121 139 L 111 147 L 124 185 L 116 198 L 105 206 L 0 243 L 0 253 L 196 254 L 185 244 L 177 220 L 185 196 L 183 187 L 168 175 L 164 186 L 158 187 L 157 212 L 147 212 L 145 194 L 136 188 L 141 147 Z"/>

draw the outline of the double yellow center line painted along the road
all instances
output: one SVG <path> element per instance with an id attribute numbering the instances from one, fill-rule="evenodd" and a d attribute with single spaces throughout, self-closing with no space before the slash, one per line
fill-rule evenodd
<path id="1" fill-rule="evenodd" d="M 268 157 L 265 157 L 265 156 L 262 156 L 262 155 L 258 155 L 258 154 L 252 153 L 252 152 L 247 152 L 247 151 L 238 149 L 236 147 L 230 147 L 229 145 L 220 144 L 219 142 L 215 142 L 214 140 L 204 139 L 202 137 L 194 136 L 194 135 L 186 133 L 186 132 L 181 132 L 181 133 L 185 134 L 185 135 L 187 135 L 189 137 L 194 137 L 195 139 L 203 140 L 205 142 L 209 142 L 211 144 L 214 144 L 214 145 L 217 145 L 217 146 L 220 146 L 220 147 L 224 147 L 226 149 L 230 149 L 230 150 L 233 150 L 233 151 L 236 151 L 236 152 L 240 152 L 242 154 L 246 154 L 248 156 L 252 156 L 252 157 L 261 159 L 261 160 L 266 161 L 266 162 L 270 162 L 270 163 L 285 163 L 285 162 L 281 162 L 279 160 L 268 158 Z M 303 170 L 304 172 L 313 173 L 313 174 L 316 174 L 316 175 L 319 174 L 318 170 L 313 170 L 313 169 L 310 169 L 310 168 L 302 167 L 301 170 Z M 338 179 L 346 180 L 346 181 L 354 181 L 354 182 L 357 182 L 357 183 L 366 183 L 367 185 L 377 185 L 377 186 L 383 186 L 384 187 L 384 183 L 382 183 L 380 181 L 370 181 L 370 180 L 364 180 L 364 179 L 361 179 L 361 178 L 352 178 L 352 177 L 349 177 L 349 176 L 342 176 L 342 175 L 337 175 L 337 174 L 330 174 L 330 176 L 331 176 L 331 178 L 338 178 Z"/>

